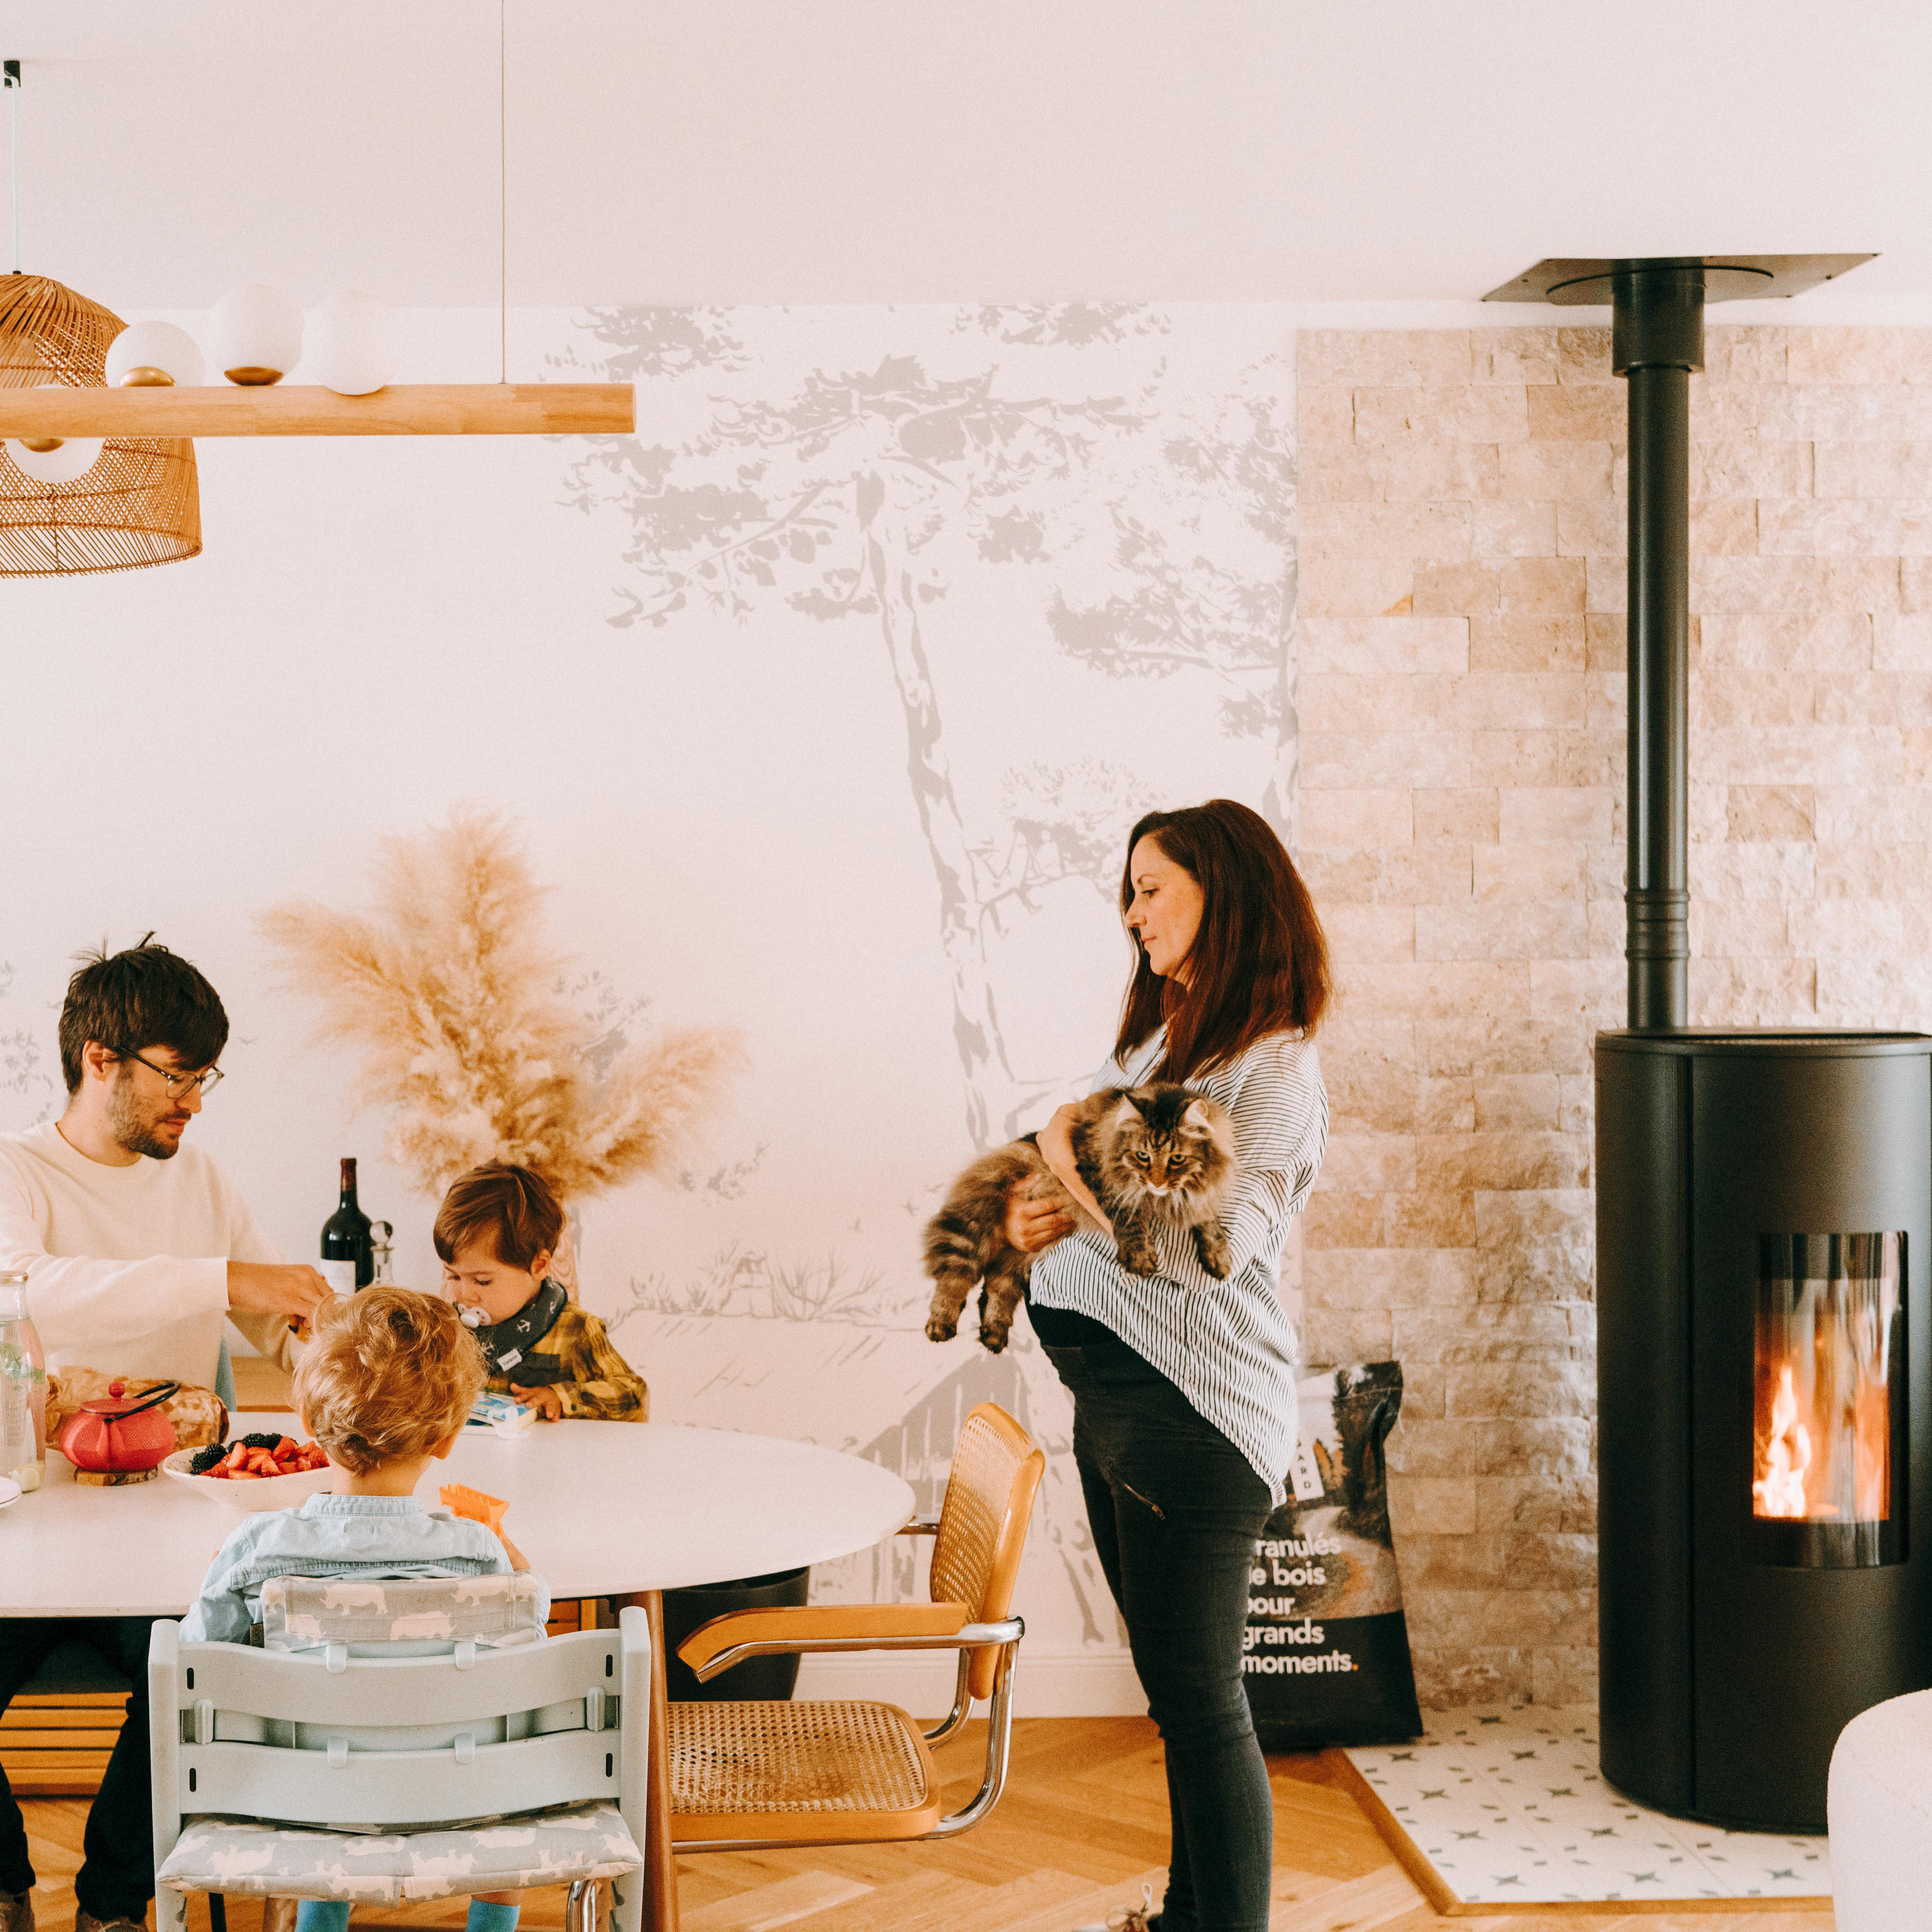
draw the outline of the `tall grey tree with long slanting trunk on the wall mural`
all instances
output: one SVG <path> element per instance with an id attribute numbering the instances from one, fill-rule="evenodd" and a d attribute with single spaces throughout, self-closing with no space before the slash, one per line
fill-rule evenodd
<path id="1" fill-rule="evenodd" d="M 593 323 L 612 369 L 661 359 L 661 311 Z M 719 327 L 701 340 L 730 355 Z M 690 330 L 676 354 L 694 354 Z M 1095 837 L 1119 825 L 1124 775 L 1095 763 L 1009 781 L 1022 806 L 995 835 L 968 833 L 952 784 L 939 694 L 925 647 L 931 607 L 949 589 L 941 539 L 962 533 L 978 564 L 1036 564 L 1095 442 L 1144 423 L 1124 398 L 1016 394 L 999 371 L 931 375 L 918 355 L 871 371 L 815 369 L 784 400 L 721 400 L 684 450 L 603 442 L 572 473 L 583 506 L 614 502 L 641 580 L 611 622 L 663 628 L 694 601 L 750 618 L 761 601 L 821 624 L 860 622 L 885 647 L 906 730 L 906 775 L 939 895 L 939 943 L 976 1148 L 1010 1140 L 1065 1070 L 1022 1078 L 1007 1053 L 987 945 L 1012 906 L 1049 885 L 1099 881 L 1113 854 Z M 1030 810 L 1028 810 L 1030 808 Z M 1119 833 L 1115 831 L 1115 837 Z"/>

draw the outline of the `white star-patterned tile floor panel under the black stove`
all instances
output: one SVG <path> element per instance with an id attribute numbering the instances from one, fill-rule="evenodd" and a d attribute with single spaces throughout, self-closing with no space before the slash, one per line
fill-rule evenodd
<path id="1" fill-rule="evenodd" d="M 1426 1723 L 1414 1745 L 1343 1756 L 1362 1806 L 1439 1913 L 1830 1903 L 1824 1837 L 1689 1824 L 1607 1785 L 1590 1706 L 1472 1706 L 1428 1712 Z"/>

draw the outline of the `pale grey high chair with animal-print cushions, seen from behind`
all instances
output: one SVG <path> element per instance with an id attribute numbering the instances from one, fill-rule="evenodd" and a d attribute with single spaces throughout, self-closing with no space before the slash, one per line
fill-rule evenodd
<path id="1" fill-rule="evenodd" d="M 155 1922 L 187 1893 L 408 1905 L 570 1886 L 568 1932 L 638 1932 L 651 1636 L 543 1642 L 529 1577 L 305 1578 L 267 1646 L 149 1636 Z M 522 1611 L 529 1609 L 527 1617 Z M 518 1638 L 524 1638 L 522 1642 Z"/>

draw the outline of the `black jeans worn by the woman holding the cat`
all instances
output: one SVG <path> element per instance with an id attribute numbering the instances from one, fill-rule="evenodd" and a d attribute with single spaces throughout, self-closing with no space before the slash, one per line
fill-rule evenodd
<path id="1" fill-rule="evenodd" d="M 1094 1549 L 1167 1745 L 1161 1932 L 1267 1932 L 1275 1820 L 1240 1677 L 1267 1484 L 1126 1343 L 1047 1356 L 1074 1397 Z"/>

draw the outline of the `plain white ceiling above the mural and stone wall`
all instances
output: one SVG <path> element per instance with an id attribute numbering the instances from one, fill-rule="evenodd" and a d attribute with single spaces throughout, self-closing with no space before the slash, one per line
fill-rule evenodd
<path id="1" fill-rule="evenodd" d="M 520 303 L 1472 299 L 1544 255 L 1752 247 L 1880 251 L 1814 321 L 1932 301 L 1911 0 L 12 0 L 8 25 L 27 267 L 116 309 L 255 276 L 495 303 L 504 209 Z"/>

